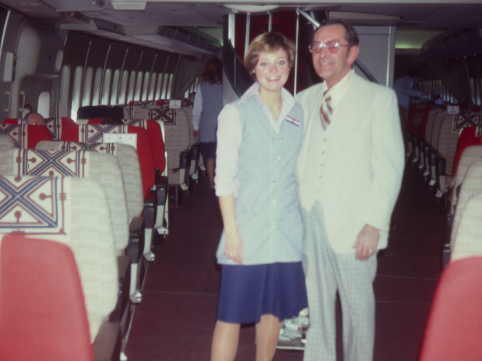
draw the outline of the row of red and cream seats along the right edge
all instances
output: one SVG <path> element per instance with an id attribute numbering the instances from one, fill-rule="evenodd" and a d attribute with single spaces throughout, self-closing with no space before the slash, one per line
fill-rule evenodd
<path id="1" fill-rule="evenodd" d="M 410 161 L 446 200 L 442 202 L 444 269 L 419 360 L 475 361 L 482 354 L 481 112 L 460 109 L 450 115 L 443 108 L 414 108 Z"/>

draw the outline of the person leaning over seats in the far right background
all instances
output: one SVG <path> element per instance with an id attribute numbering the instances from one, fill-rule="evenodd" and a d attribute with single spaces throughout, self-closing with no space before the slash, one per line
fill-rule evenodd
<path id="1" fill-rule="evenodd" d="M 410 97 L 419 97 L 427 94 L 427 91 L 418 91 L 413 89 L 421 79 L 419 69 L 410 69 L 406 76 L 399 78 L 393 83 L 393 90 L 397 94 L 399 116 L 401 124 L 401 134 L 404 136 L 404 144 L 408 144 L 407 115 L 410 107 Z"/>

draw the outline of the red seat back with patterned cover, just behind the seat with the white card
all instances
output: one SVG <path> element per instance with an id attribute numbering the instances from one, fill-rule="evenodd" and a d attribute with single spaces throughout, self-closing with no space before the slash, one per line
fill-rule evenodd
<path id="1" fill-rule="evenodd" d="M 76 124 L 62 132 L 64 142 L 102 143 L 104 133 L 137 134 L 137 154 L 140 173 L 143 176 L 143 196 L 155 185 L 154 161 L 152 160 L 151 143 L 147 131 L 141 127 L 127 125 Z"/>

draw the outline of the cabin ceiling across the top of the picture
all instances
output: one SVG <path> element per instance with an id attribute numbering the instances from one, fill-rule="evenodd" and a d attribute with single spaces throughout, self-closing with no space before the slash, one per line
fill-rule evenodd
<path id="1" fill-rule="evenodd" d="M 258 7 L 257 10 L 266 10 L 263 6 L 275 7 L 272 12 L 296 9 L 306 12 L 328 11 L 332 18 L 345 17 L 355 25 L 393 25 L 398 29 L 410 29 L 410 36 L 416 39 L 419 34 L 424 41 L 446 30 L 479 28 L 482 24 L 482 3 L 479 0 L 371 0 L 370 3 L 354 0 L 322 3 L 313 0 L 264 3 L 250 0 L 0 0 L 0 3 L 30 18 L 56 23 L 65 30 L 78 30 L 189 55 L 205 55 L 209 51 L 187 44 L 180 45 L 172 39 L 162 39 L 163 36 L 158 34 L 160 27 L 192 29 L 194 34 L 220 45 L 222 32 L 219 27 L 222 26 L 224 15 L 233 12 L 227 6 L 254 6 Z"/>

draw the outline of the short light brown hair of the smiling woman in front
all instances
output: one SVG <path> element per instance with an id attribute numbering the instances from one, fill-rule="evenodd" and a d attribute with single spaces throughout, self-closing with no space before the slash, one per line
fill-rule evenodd
<path id="1" fill-rule="evenodd" d="M 254 76 L 253 70 L 258 64 L 261 52 L 273 53 L 282 48 L 288 54 L 288 65 L 290 69 L 295 63 L 296 47 L 293 41 L 286 39 L 286 36 L 279 32 L 264 32 L 258 35 L 249 44 L 248 51 L 244 54 L 244 67 L 249 74 Z"/>

